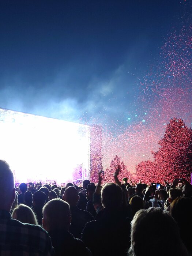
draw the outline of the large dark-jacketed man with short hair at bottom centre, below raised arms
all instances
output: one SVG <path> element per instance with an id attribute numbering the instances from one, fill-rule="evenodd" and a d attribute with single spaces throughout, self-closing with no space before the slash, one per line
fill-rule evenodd
<path id="1" fill-rule="evenodd" d="M 114 183 L 101 190 L 103 209 L 95 221 L 88 222 L 82 231 L 82 240 L 94 256 L 127 256 L 130 240 L 130 220 L 123 212 L 123 191 Z"/>

